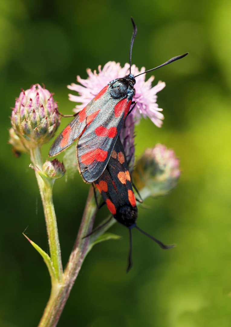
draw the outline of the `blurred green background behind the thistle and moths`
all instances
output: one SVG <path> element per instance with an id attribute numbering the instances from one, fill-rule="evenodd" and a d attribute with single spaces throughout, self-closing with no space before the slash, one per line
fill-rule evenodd
<path id="1" fill-rule="evenodd" d="M 49 297 L 50 278 L 22 232 L 47 250 L 41 199 L 26 155 L 10 151 L 8 128 L 20 88 L 44 83 L 70 114 L 67 84 L 109 60 L 153 68 L 166 87 L 158 94 L 161 129 L 142 120 L 136 154 L 157 142 L 180 157 L 178 187 L 139 207 L 139 226 L 169 251 L 134 231 L 134 267 L 125 273 L 128 231 L 93 248 L 58 326 L 230 326 L 231 306 L 231 2 L 228 0 L 0 0 L 1 220 L 0 326 L 36 326 Z M 150 77 L 151 73 L 147 77 Z M 61 129 L 67 124 L 62 120 Z M 44 159 L 52 141 L 43 148 Z M 62 158 L 62 155 L 59 156 Z M 54 203 L 65 266 L 89 185 L 78 174 L 56 181 Z M 107 208 L 97 221 L 107 215 Z M 223 297 L 222 297 L 223 284 Z"/>

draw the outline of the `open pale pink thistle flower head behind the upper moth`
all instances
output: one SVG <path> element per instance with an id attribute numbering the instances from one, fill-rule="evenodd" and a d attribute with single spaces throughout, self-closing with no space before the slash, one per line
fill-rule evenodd
<path id="1" fill-rule="evenodd" d="M 126 63 L 122 68 L 119 62 L 109 61 L 103 69 L 99 66 L 98 70 L 99 73 L 97 74 L 96 71 L 92 73 L 91 69 L 87 69 L 89 76 L 87 79 L 77 76 L 77 81 L 81 85 L 74 83 L 68 85 L 70 90 L 78 92 L 78 95 L 69 94 L 69 100 L 81 103 L 75 106 L 74 112 L 82 110 L 110 81 L 128 75 L 129 64 Z M 144 67 L 139 71 L 135 65 L 131 66 L 131 73 L 134 76 L 143 72 L 145 72 Z M 165 87 L 165 83 L 159 81 L 156 86 L 152 87 L 154 76 L 145 82 L 145 75 L 143 74 L 136 78 L 134 86 L 136 94 L 133 97 L 133 101 L 137 101 L 137 104 L 127 116 L 125 125 L 120 132 L 120 139 L 130 167 L 134 163 L 134 124 L 139 123 L 141 116 L 143 116 L 144 118 L 149 117 L 157 127 L 161 127 L 162 120 L 164 119 L 161 113 L 162 109 L 158 108 L 156 103 L 156 94 Z"/>

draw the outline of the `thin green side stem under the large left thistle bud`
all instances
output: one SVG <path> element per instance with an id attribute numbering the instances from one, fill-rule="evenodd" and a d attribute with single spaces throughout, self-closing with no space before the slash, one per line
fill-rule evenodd
<path id="1" fill-rule="evenodd" d="M 50 250 L 51 261 L 55 270 L 56 280 L 51 277 L 52 290 L 51 294 L 54 293 L 57 288 L 57 283 L 62 282 L 63 268 L 61 262 L 61 251 L 58 239 L 58 227 L 55 215 L 55 209 L 52 198 L 52 188 L 54 181 L 47 179 L 46 181 L 41 178 L 37 170 L 42 172 L 42 155 L 41 148 L 36 147 L 30 150 L 30 159 L 34 165 L 35 175 L 39 185 L 39 190 L 42 199 L 42 205 L 46 221 L 46 229 L 48 234 L 48 244 Z"/>

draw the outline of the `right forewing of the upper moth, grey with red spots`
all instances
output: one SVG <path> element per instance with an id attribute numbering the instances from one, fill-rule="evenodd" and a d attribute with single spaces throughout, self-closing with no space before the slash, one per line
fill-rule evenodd
<path id="1" fill-rule="evenodd" d="M 104 172 L 131 105 L 126 97 L 102 100 L 94 124 L 87 126 L 77 145 L 79 172 L 92 183 Z"/>

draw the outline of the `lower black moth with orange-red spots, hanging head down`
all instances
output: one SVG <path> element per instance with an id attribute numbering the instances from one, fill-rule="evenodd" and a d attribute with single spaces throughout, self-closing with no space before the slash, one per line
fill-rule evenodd
<path id="1" fill-rule="evenodd" d="M 136 198 L 132 189 L 132 181 L 128 171 L 124 148 L 119 137 L 117 138 L 106 169 L 94 184 L 114 218 L 129 229 L 130 247 L 127 272 L 132 267 L 132 228 L 135 227 L 140 232 L 150 237 L 157 242 L 162 249 L 170 249 L 173 247 L 173 245 L 164 245 L 136 225 L 138 212 Z"/>

